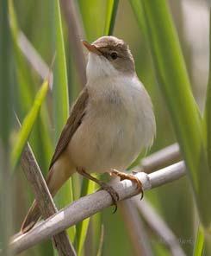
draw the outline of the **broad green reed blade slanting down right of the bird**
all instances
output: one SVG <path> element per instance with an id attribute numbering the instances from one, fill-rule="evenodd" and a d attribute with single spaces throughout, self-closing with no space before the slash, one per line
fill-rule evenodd
<path id="1" fill-rule="evenodd" d="M 211 195 L 211 175 L 208 170 L 205 136 L 202 118 L 190 90 L 177 33 L 164 0 L 142 0 L 141 3 L 158 83 L 189 170 L 202 224 L 208 227 L 211 204 L 207 195 Z"/>

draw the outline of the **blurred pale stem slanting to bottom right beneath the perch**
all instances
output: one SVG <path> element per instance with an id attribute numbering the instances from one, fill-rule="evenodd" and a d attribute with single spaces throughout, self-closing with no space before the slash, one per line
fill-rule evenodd
<path id="1" fill-rule="evenodd" d="M 158 215 L 154 208 L 146 199 L 140 202 L 138 196 L 134 196 L 133 203 L 140 210 L 140 214 L 145 219 L 149 227 L 158 235 L 161 242 L 169 247 L 172 256 L 185 256 L 182 247 L 179 245 L 177 237 L 171 231 L 170 227 L 164 222 L 164 220 Z"/>

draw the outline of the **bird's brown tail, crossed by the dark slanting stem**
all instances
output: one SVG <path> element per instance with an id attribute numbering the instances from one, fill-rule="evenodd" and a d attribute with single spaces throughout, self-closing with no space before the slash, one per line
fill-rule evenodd
<path id="1" fill-rule="evenodd" d="M 59 165 L 59 170 L 52 168 L 47 175 L 47 186 L 53 196 L 56 195 L 57 191 L 74 172 L 74 170 L 70 171 L 70 169 L 67 170 L 66 168 L 60 167 L 61 165 Z M 28 210 L 28 214 L 22 222 L 21 232 L 27 233 L 32 227 L 34 227 L 40 217 L 41 214 L 38 203 L 34 200 L 31 208 Z"/>

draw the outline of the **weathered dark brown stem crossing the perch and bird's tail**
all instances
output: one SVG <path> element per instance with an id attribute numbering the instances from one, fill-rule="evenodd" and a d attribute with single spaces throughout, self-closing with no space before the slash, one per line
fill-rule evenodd
<path id="1" fill-rule="evenodd" d="M 22 170 L 24 170 L 25 175 L 27 176 L 28 182 L 31 184 L 32 189 L 34 190 L 34 195 L 39 202 L 40 212 L 44 219 L 47 219 L 49 216 L 57 213 L 57 208 L 54 205 L 53 198 L 47 188 L 44 177 L 41 174 L 40 168 L 36 163 L 34 154 L 27 144 L 25 150 L 22 153 Z M 71 245 L 70 240 L 68 239 L 65 231 L 55 235 L 53 237 L 54 246 L 59 252 L 59 255 L 68 255 L 75 256 L 75 250 Z"/>

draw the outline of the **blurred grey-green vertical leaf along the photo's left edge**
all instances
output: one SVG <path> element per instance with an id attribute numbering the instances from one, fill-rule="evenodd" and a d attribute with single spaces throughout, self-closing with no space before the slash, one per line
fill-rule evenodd
<path id="1" fill-rule="evenodd" d="M 11 255 L 13 186 L 10 178 L 9 137 L 12 131 L 12 68 L 8 2 L 0 0 L 0 247 L 2 255 Z"/>

